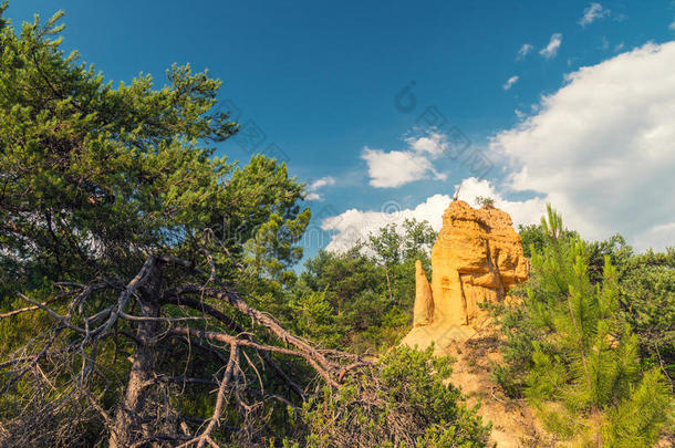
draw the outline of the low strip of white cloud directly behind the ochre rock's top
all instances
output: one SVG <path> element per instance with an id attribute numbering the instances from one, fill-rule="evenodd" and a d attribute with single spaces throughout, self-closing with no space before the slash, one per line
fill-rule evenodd
<path id="1" fill-rule="evenodd" d="M 506 200 L 488 180 L 478 180 L 475 177 L 464 179 L 455 188 L 459 188 L 459 199 L 476 207 L 478 196 L 495 199 L 495 206 L 509 212 L 515 225 L 539 222 L 546 210 L 542 198 L 532 198 L 523 201 Z M 415 218 L 418 221 L 428 221 L 434 230 L 440 230 L 443 212 L 453 198 L 449 195 L 434 195 L 415 208 L 401 208 L 395 201 L 387 201 L 380 211 L 350 209 L 343 213 L 323 220 L 323 230 L 335 231 L 326 247 L 329 251 L 343 252 L 360 240 L 365 240 L 370 233 L 388 225 L 401 225 L 405 219 Z"/>

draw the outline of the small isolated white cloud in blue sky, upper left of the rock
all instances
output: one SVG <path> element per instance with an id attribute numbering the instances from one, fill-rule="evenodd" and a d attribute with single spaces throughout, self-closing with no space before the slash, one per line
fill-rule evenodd
<path id="1" fill-rule="evenodd" d="M 370 184 L 376 188 L 394 188 L 405 184 L 422 180 L 445 180 L 446 174 L 434 169 L 432 160 L 438 158 L 448 147 L 447 136 L 429 133 L 423 137 L 406 138 L 405 150 L 385 152 L 363 149 L 361 158 L 368 166 Z"/>

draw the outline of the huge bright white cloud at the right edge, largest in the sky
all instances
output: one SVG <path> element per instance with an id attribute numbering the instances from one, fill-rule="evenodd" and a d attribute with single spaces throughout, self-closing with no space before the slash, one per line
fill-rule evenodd
<path id="1" fill-rule="evenodd" d="M 544 195 L 590 239 L 675 246 L 675 41 L 567 76 L 534 115 L 497 134 L 510 186 Z"/>

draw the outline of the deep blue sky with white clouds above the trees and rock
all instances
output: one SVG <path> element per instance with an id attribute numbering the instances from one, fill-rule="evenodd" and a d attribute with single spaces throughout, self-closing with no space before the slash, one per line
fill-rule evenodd
<path id="1" fill-rule="evenodd" d="M 349 228 L 364 229 L 408 215 L 439 218 L 447 206 L 446 196 L 463 184 L 464 195 L 491 194 L 507 210 L 520 210 L 512 212 L 517 222 L 532 221 L 543 202 L 552 200 L 570 217 L 568 222 L 588 230 L 590 238 L 622 231 L 642 249 L 663 248 L 668 241 L 675 244 L 675 216 L 669 211 L 675 207 L 663 200 L 645 201 L 654 187 L 665 188 L 668 195 L 675 188 L 663 184 L 666 176 L 661 171 L 652 176 L 648 169 L 673 168 L 675 148 L 668 146 L 669 135 L 655 147 L 637 145 L 640 149 L 608 149 L 605 154 L 613 145 L 613 129 L 632 128 L 626 119 L 640 111 L 613 116 L 614 122 L 608 124 L 598 103 L 581 101 L 565 108 L 567 91 L 562 92 L 570 85 L 596 92 L 595 86 L 610 84 L 617 88 L 633 85 L 631 92 L 641 92 L 643 75 L 623 80 L 612 75 L 610 64 L 617 65 L 620 73 L 653 64 L 650 73 L 656 71 L 661 77 L 651 84 L 662 83 L 664 90 L 647 95 L 642 103 L 631 96 L 622 104 L 635 100 L 648 108 L 654 104 L 650 98 L 665 95 L 667 101 L 660 107 L 669 113 L 675 104 L 671 102 L 675 96 L 669 96 L 669 73 L 675 73 L 668 46 L 675 39 L 672 1 L 326 3 L 13 0 L 7 15 L 17 23 L 32 20 L 35 12 L 46 19 L 58 9 L 65 10 L 64 48 L 77 49 L 84 61 L 115 82 L 128 82 L 144 72 L 153 74 L 160 85 L 166 67 L 174 62 L 189 62 L 194 70 L 208 69 L 224 81 L 220 97 L 237 108 L 242 125 L 250 122 L 264 133 L 257 149 L 276 144 L 288 157 L 293 175 L 310 184 L 323 179 L 315 184 L 315 199 L 310 204 L 321 218 L 340 217 L 316 222 L 331 230 L 334 242 Z M 526 44 L 531 49 L 519 56 Z M 654 48 L 645 49 L 645 44 Z M 642 53 L 622 60 L 623 53 L 640 49 Z M 577 81 L 565 79 L 582 73 L 579 70 L 584 66 L 591 70 Z M 397 94 L 411 85 L 416 104 L 405 112 Z M 553 100 L 544 103 L 542 95 Z M 403 97 L 411 100 L 398 100 Z M 445 116 L 446 126 L 433 128 L 425 122 L 423 114 L 429 107 Z M 547 132 L 564 127 L 557 126 L 555 119 L 567 124 L 586 115 L 589 125 L 598 119 L 602 127 L 591 135 L 606 136 L 605 140 L 588 135 L 570 137 L 569 159 L 561 162 L 551 155 L 529 162 L 546 153 L 537 145 L 548 148 L 547 142 L 558 145 L 574 135 L 574 129 L 563 136 Z M 626 139 L 642 135 L 652 145 L 651 136 L 663 127 L 663 113 L 657 115 L 662 118 L 636 123 Z M 527 129 L 523 123 L 529 124 Z M 491 166 L 487 174 L 470 169 L 463 157 L 445 156 L 448 145 L 453 149 L 453 126 L 471 143 L 463 157 L 480 154 Z M 666 131 L 673 132 L 672 126 Z M 432 146 L 425 149 L 425 143 Z M 224 143 L 219 150 L 242 162 L 249 157 L 235 140 Z M 537 156 L 530 157 L 529 150 Z M 568 149 L 562 146 L 557 150 Z M 626 205 L 608 200 L 612 186 L 631 177 L 621 174 L 621 167 L 635 166 L 637 150 L 663 153 L 661 159 L 650 158 L 652 165 L 630 184 L 631 200 L 646 207 L 648 216 L 643 219 L 626 216 Z M 595 158 L 584 156 L 591 153 Z M 616 168 L 602 162 L 614 164 L 614 159 L 619 160 Z M 418 169 L 406 168 L 411 160 L 420 164 Z M 596 169 L 581 180 L 570 179 L 580 173 L 570 160 L 585 162 Z M 548 188 L 542 178 L 551 176 L 544 169 L 551 164 L 561 164 L 561 173 L 570 175 Z M 601 165 L 614 169 L 613 176 L 598 177 Z M 516 176 L 522 175 L 523 167 L 529 180 Z M 402 183 L 378 181 L 382 175 Z M 645 176 L 661 184 L 647 185 L 641 180 Z M 564 192 L 565 181 L 584 189 Z M 466 198 L 472 199 L 469 196 Z M 345 215 L 347 210 L 351 212 Z M 330 238 L 310 243 L 309 252 L 328 244 Z"/>

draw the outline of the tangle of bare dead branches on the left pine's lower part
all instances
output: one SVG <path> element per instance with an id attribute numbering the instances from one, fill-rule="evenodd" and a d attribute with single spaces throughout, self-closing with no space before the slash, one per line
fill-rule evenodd
<path id="1" fill-rule="evenodd" d="M 0 395 L 10 390 L 27 374 L 32 375 L 33 390 L 31 396 L 24 397 L 23 410 L 18 411 L 15 419 L 11 420 L 11 429 L 3 427 L 2 434 L 10 434 L 11 437 L 18 428 L 23 428 L 24 436 L 40 431 L 39 426 L 23 416 L 34 414 L 35 421 L 55 418 L 59 413 L 70 413 L 73 400 L 77 400 L 77 409 L 81 409 L 79 411 L 83 417 L 71 423 L 84 424 L 92 418 L 98 419 L 113 448 L 166 444 L 218 446 L 216 440 L 222 434 L 240 434 L 237 437 L 250 441 L 256 438 L 258 429 L 253 430 L 246 424 L 241 428 L 224 425 L 226 402 L 230 404 L 228 406 L 240 409 L 242 421 L 250 416 L 261 415 L 266 408 L 270 409 L 269 403 L 281 404 L 282 409 L 298 409 L 292 395 L 287 397 L 266 390 L 269 383 L 266 384 L 263 379 L 262 367 L 270 367 L 289 393 L 292 392 L 301 400 L 305 397 L 303 388 L 291 378 L 289 371 L 274 361 L 276 356 L 307 363 L 311 367 L 309 372 L 315 372 L 316 378 L 320 378 L 315 379 L 316 385 L 331 387 L 339 387 L 354 369 L 371 365 L 356 355 L 319 350 L 289 332 L 273 316 L 251 306 L 238 292 L 224 285 L 216 275 L 210 253 L 206 250 L 201 253 L 206 257 L 209 272 L 199 270 L 191 261 L 150 256 L 128 282 L 62 282 L 58 286 L 64 291 L 44 302 L 20 294 L 30 306 L 0 314 L 0 320 L 44 311 L 54 321 L 54 326 L 0 364 L 0 385 L 3 386 Z M 190 275 L 208 277 L 207 283 L 215 285 L 187 284 L 164 289 L 162 269 L 166 264 L 187 269 Z M 70 298 L 68 302 L 55 304 L 56 300 L 66 296 Z M 168 309 L 167 305 L 178 306 L 178 314 L 176 309 Z M 66 310 L 65 314 L 61 310 Z M 235 317 L 230 317 L 232 313 Z M 251 325 L 239 323 L 237 314 L 243 321 L 250 320 Z M 188 323 L 190 326 L 186 326 Z M 193 327 L 193 324 L 196 326 Z M 222 330 L 215 331 L 218 329 Z M 253 335 L 255 331 L 258 331 L 257 336 Z M 118 335 L 124 340 L 120 341 Z M 163 351 L 156 347 L 173 344 L 175 340 L 186 344 L 188 350 L 199 348 L 197 360 L 209 360 L 208 363 L 215 363 L 211 366 L 224 366 L 221 379 L 185 373 L 176 375 L 175 366 L 160 364 Z M 118 344 L 133 353 L 126 379 L 110 372 L 100 360 L 105 344 L 110 343 L 114 343 L 115 357 Z M 189 356 L 185 372 L 200 372 L 195 366 Z M 211 371 L 214 368 L 218 371 L 217 367 L 209 367 Z M 55 378 L 63 379 L 56 382 Z M 214 414 L 206 420 L 195 417 L 186 420 L 172 409 L 166 399 L 176 393 L 176 387 L 205 385 L 218 386 Z M 114 407 L 103 404 L 105 393 L 94 393 L 113 390 L 114 387 L 124 387 L 122 399 Z M 186 421 L 193 425 L 201 421 L 199 425 L 202 429 L 190 430 Z M 24 436 L 15 439 L 30 439 Z M 4 437 L 0 437 L 0 444 L 6 440 Z M 62 438 L 65 436 L 44 437 L 45 440 L 65 440 Z"/>

